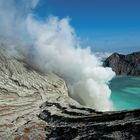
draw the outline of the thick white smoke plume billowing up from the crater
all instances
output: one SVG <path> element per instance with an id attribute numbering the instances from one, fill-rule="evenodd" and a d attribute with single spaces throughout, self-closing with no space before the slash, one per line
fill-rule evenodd
<path id="1" fill-rule="evenodd" d="M 35 7 L 37 2 L 33 3 L 31 6 Z M 16 39 L 20 36 L 25 42 L 30 42 L 33 46 L 31 49 L 24 47 L 24 50 L 30 50 L 30 62 L 43 72 L 52 71 L 64 78 L 70 96 L 80 104 L 100 111 L 113 110 L 111 90 L 108 87 L 109 81 L 115 75 L 111 68 L 102 67 L 102 62 L 90 48 L 80 46 L 68 18 L 49 16 L 45 21 L 39 21 L 35 15 L 27 12 L 28 9 L 29 7 L 24 18 L 16 15 L 17 11 L 13 9 L 14 16 L 8 20 L 9 32 L 2 33 L 6 36 L 16 33 Z M 4 18 L 3 20 L 7 19 Z M 13 30 L 11 24 L 14 23 L 18 23 L 20 27 Z M 0 30 L 3 30 L 3 26 L 4 24 L 0 24 Z"/>

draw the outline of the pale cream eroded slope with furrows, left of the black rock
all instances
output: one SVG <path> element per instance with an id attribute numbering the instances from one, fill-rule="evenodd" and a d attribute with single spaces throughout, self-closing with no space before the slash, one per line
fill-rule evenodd
<path id="1" fill-rule="evenodd" d="M 45 101 L 76 104 L 68 98 L 61 78 L 53 73 L 41 74 L 1 49 L 0 139 L 45 139 L 46 122 L 38 118 Z"/>

